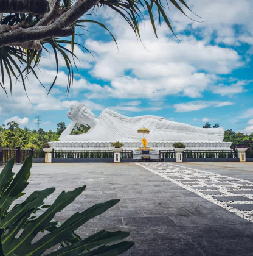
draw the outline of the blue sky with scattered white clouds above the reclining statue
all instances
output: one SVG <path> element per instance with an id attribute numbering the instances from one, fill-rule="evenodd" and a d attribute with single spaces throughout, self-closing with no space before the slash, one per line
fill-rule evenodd
<path id="1" fill-rule="evenodd" d="M 224 129 L 253 132 L 253 1 L 189 0 L 195 13 L 206 17 L 196 23 L 171 7 L 167 10 L 177 40 L 164 23 L 156 39 L 150 22 L 140 22 L 142 42 L 128 24 L 111 10 L 100 9 L 94 20 L 105 23 L 116 37 L 119 49 L 108 32 L 92 25 L 78 43 L 94 58 L 75 48 L 79 74 L 66 98 L 66 69 L 60 60 L 60 74 L 52 93 L 34 77 L 27 91 L 19 83 L 12 98 L 0 95 L 0 124 L 17 121 L 35 129 L 35 115 L 44 130 L 70 120 L 71 104 L 83 102 L 95 115 L 111 108 L 126 116 L 157 115 L 202 127 L 206 121 Z M 189 12 L 187 12 L 189 13 Z M 189 13 L 195 20 L 203 21 Z M 41 61 L 43 84 L 54 80 L 52 54 Z"/>

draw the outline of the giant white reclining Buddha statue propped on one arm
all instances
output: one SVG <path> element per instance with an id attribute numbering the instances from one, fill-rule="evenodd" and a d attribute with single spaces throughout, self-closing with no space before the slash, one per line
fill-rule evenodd
<path id="1" fill-rule="evenodd" d="M 72 123 L 63 131 L 60 141 L 140 141 L 140 127 L 147 127 L 148 141 L 223 141 L 223 128 L 199 128 L 178 123 L 159 116 L 145 115 L 128 117 L 105 109 L 97 118 L 83 104 L 71 105 L 67 116 Z M 71 135 L 75 124 L 89 126 L 87 133 Z"/>

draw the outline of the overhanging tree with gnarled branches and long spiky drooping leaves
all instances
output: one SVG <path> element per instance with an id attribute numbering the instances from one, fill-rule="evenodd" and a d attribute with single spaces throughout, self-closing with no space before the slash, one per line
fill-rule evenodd
<path id="1" fill-rule="evenodd" d="M 76 57 L 74 45 L 83 47 L 75 42 L 75 38 L 83 34 L 83 30 L 81 30 L 83 27 L 97 24 L 108 30 L 105 25 L 87 18 L 87 15 L 94 15 L 96 9 L 104 8 L 105 5 L 123 16 L 139 38 L 138 24 L 143 16 L 150 18 L 156 37 L 158 35 L 153 15 L 158 17 L 159 23 L 164 21 L 173 32 L 165 13 L 165 3 L 157 0 L 19 0 L 18 4 L 15 2 L 0 0 L 0 65 L 2 74 L 0 85 L 5 93 L 7 91 L 4 87 L 6 82 L 4 74 L 9 77 L 11 92 L 12 76 L 15 79 L 19 78 L 26 88 L 27 74 L 31 73 L 37 78 L 36 71 L 38 69 L 36 67 L 40 63 L 41 54 L 48 51 L 50 47 L 54 51 L 57 74 L 58 55 L 61 55 L 66 63 L 67 90 L 69 90 L 72 80 L 70 76 L 73 76 L 73 73 L 72 60 L 68 57 L 68 53 Z M 184 15 L 182 8 L 189 9 L 184 0 L 169 0 L 168 2 L 175 5 L 176 9 Z M 87 13 L 89 10 L 91 12 Z M 72 37 L 71 40 L 61 39 L 69 36 Z M 114 41 L 116 41 L 115 38 Z M 71 44 L 71 51 L 65 47 L 66 44 Z M 50 89 L 55 84 L 57 74 Z"/>

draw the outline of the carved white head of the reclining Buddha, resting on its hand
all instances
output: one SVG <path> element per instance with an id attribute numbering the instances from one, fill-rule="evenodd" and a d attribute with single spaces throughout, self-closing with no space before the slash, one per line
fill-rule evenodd
<path id="1" fill-rule="evenodd" d="M 71 110 L 67 113 L 68 118 L 73 121 L 77 121 L 79 124 L 83 124 L 85 126 L 92 126 L 95 123 L 96 116 L 94 113 L 89 110 L 86 105 L 77 104 L 71 105 Z"/>

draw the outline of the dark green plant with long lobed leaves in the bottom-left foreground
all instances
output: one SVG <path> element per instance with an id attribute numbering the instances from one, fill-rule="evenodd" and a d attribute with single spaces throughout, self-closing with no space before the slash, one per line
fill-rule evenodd
<path id="1" fill-rule="evenodd" d="M 130 235 L 129 232 L 101 230 L 85 239 L 75 233 L 78 227 L 116 205 L 119 199 L 96 204 L 81 213 L 77 212 L 63 223 L 53 219 L 54 215 L 71 204 L 86 186 L 75 188 L 73 191 L 63 191 L 52 205 L 44 205 L 43 201 L 54 193 L 55 188 L 34 191 L 24 202 L 11 208 L 15 200 L 25 194 L 23 191 L 29 185 L 27 180 L 32 167 L 32 156 L 26 158 L 15 177 L 12 172 L 14 163 L 15 158 L 12 158 L 0 174 L 0 255 L 37 256 L 57 244 L 61 244 L 61 248 L 47 255 L 119 255 L 133 246 L 131 241 L 111 244 L 126 238 Z M 46 210 L 41 215 L 36 214 L 41 209 Z M 34 240 L 36 235 L 45 230 L 48 232 L 46 235 L 37 241 Z"/>

